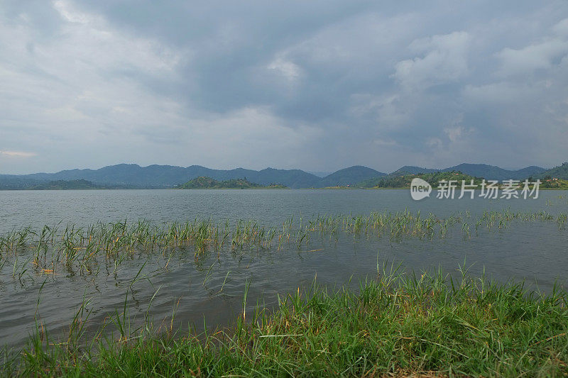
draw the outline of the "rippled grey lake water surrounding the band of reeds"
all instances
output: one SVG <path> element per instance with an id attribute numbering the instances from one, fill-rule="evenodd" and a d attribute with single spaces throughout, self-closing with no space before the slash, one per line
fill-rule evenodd
<path id="1" fill-rule="evenodd" d="M 538 199 L 435 199 L 413 201 L 408 190 L 97 190 L 0 191 L 0 235 L 44 225 L 65 228 L 93 223 L 155 225 L 195 218 L 227 221 L 256 220 L 282 228 L 294 218 L 306 224 L 323 216 L 367 215 L 373 211 L 409 211 L 437 218 L 459 217 L 444 238 L 389 238 L 373 233 L 337 235 L 311 233 L 308 243 L 284 248 L 224 248 L 195 258 L 191 247 L 175 253 L 140 253 L 115 264 L 98 261 L 94 271 L 35 269 L 28 255 L 1 257 L 0 343 L 20 346 L 35 330 L 38 319 L 53 335 L 65 335 L 82 303 L 92 311 L 89 330 L 95 330 L 115 310 L 129 308 L 133 323 L 149 315 L 160 325 L 175 312 L 175 326 L 197 330 L 226 326 L 242 312 L 250 283 L 247 311 L 257 302 L 268 307 L 277 295 L 306 287 L 316 279 L 328 287 L 373 279 L 377 266 L 400 263 L 404 269 L 436 269 L 455 274 L 459 265 L 471 274 L 499 281 L 513 279 L 550 291 L 565 287 L 568 270 L 568 231 L 555 221 L 513 220 L 506 227 L 473 227 L 484 211 L 536 213 L 552 218 L 568 213 L 567 191 L 540 191 Z M 31 248 L 28 248 L 31 250 Z"/>

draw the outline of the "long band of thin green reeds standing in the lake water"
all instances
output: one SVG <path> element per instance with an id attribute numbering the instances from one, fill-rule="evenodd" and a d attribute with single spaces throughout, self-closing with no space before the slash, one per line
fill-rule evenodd
<path id="1" fill-rule="evenodd" d="M 367 238 L 446 238 L 452 230 L 471 238 L 471 226 L 477 235 L 482 229 L 507 228 L 511 222 L 555 222 L 565 229 L 567 214 L 554 216 L 546 211 L 513 212 L 485 211 L 477 219 L 469 213 L 457 213 L 439 218 L 420 211 L 373 212 L 357 216 L 315 216 L 312 219 L 285 219 L 282 227 L 265 226 L 258 221 L 239 220 L 214 222 L 194 219 L 156 225 L 148 221 L 128 223 L 96 223 L 87 227 L 73 224 L 30 227 L 0 235 L 0 266 L 11 262 L 13 277 L 22 277 L 33 265 L 37 274 L 49 274 L 55 269 L 67 269 L 80 274 L 92 274 L 100 263 L 114 266 L 144 255 L 161 255 L 168 259 L 175 252 L 192 253 L 196 260 L 214 251 L 300 250 L 315 237 L 338 240 L 340 234 Z M 456 229 L 457 228 L 457 229 Z M 33 256 L 30 259 L 30 256 Z"/>

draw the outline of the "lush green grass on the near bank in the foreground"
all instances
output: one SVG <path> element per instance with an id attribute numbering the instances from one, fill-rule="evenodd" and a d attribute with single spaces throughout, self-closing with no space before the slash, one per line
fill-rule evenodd
<path id="1" fill-rule="evenodd" d="M 313 284 L 224 330 L 173 333 L 145 324 L 114 338 L 31 338 L 4 374 L 91 377 L 383 377 L 568 374 L 564 291 L 540 295 L 462 271 L 383 268 L 356 291 Z M 246 305 L 246 294 L 243 301 Z M 125 310 L 126 311 L 126 310 Z M 120 314 L 116 319 L 120 323 Z M 81 324 L 80 319 L 74 323 Z M 116 321 L 115 321 L 116 323 Z M 126 328 L 126 326 L 124 326 Z M 39 329 L 39 328 L 38 328 Z M 72 330 L 80 327 L 71 327 Z M 123 329 L 123 328 L 121 328 Z M 78 331 L 77 331 L 78 332 Z M 84 338 L 84 336 L 83 336 Z"/>

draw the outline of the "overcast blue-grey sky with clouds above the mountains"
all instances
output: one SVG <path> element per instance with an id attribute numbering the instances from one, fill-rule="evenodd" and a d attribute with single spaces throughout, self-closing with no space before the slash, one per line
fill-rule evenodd
<path id="1" fill-rule="evenodd" d="M 0 2 L 0 173 L 568 160 L 568 2 Z"/>

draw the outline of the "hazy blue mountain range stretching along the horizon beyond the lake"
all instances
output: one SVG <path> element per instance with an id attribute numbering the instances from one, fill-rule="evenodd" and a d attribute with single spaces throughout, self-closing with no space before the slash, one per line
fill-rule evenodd
<path id="1" fill-rule="evenodd" d="M 494 165 L 466 163 L 444 169 L 407 165 L 389 175 L 402 176 L 403 174 L 452 171 L 500 181 L 503 179 L 526 179 L 528 177 L 536 179 L 547 176 L 568 179 L 568 163 L 548 170 L 535 166 L 510 170 Z M 70 169 L 56 173 L 0 174 L 0 189 L 31 189 L 47 182 L 60 180 L 87 180 L 97 186 L 113 188 L 171 188 L 196 177 L 211 177 L 219 181 L 246 179 L 256 184 L 269 185 L 277 183 L 289 188 L 322 188 L 354 185 L 364 180 L 386 175 L 386 173 L 361 165 L 339 169 L 337 172 L 328 174 L 325 177 L 318 177 L 300 169 L 266 168 L 256 171 L 244 168 L 211 169 L 200 165 L 191 165 L 190 167 L 148 165 L 148 167 L 141 167 L 136 164 L 119 164 L 100 169 Z"/>

